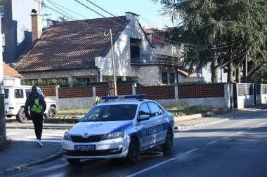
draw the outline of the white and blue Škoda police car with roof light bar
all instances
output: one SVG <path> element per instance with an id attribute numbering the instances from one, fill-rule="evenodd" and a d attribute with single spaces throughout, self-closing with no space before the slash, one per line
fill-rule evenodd
<path id="1" fill-rule="evenodd" d="M 145 94 L 102 97 L 63 136 L 63 156 L 70 164 L 82 159 L 124 158 L 135 163 L 138 153 L 155 146 L 171 150 L 174 116 Z"/>

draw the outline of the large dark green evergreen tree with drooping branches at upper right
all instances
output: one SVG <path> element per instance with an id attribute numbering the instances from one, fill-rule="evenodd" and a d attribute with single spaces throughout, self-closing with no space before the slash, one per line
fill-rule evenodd
<path id="1" fill-rule="evenodd" d="M 183 43 L 179 44 L 184 48 L 183 65 L 191 72 L 193 66 L 211 63 L 211 82 L 216 83 L 218 69 L 228 66 L 228 82 L 233 82 L 233 71 L 244 68 L 247 53 L 252 59 L 250 73 L 266 62 L 266 0 L 160 0 L 160 3 L 162 15 L 170 16 L 177 24 L 168 28 L 169 39 L 173 44 Z"/>

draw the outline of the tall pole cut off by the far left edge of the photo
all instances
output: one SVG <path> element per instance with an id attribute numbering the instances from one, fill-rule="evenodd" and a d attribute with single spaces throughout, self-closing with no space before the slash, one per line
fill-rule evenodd
<path id="1" fill-rule="evenodd" d="M 1 20 L 0 15 L 0 34 L 1 32 Z M 5 115 L 5 104 L 4 104 L 4 68 L 3 68 L 3 52 L 2 52 L 2 35 L 0 36 L 0 146 L 6 141 L 6 115 Z"/>

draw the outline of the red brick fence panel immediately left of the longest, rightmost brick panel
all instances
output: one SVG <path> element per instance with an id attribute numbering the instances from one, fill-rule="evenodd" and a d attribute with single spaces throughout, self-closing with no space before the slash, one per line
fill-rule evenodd
<path id="1" fill-rule="evenodd" d="M 174 86 L 136 87 L 136 94 L 146 94 L 145 99 L 175 99 Z"/>

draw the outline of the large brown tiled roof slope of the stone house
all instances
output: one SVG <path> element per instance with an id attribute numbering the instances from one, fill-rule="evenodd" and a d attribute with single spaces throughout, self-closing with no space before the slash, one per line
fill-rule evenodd
<path id="1" fill-rule="evenodd" d="M 22 57 L 15 70 L 23 73 L 93 68 L 94 57 L 110 48 L 110 35 L 105 36 L 103 29 L 112 29 L 115 37 L 126 23 L 125 16 L 57 22 Z"/>

